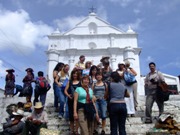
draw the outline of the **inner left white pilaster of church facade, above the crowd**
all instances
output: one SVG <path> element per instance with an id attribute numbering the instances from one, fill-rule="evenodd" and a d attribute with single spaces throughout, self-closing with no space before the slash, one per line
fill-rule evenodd
<path id="1" fill-rule="evenodd" d="M 72 69 L 74 68 L 74 65 L 75 65 L 74 58 L 75 58 L 77 49 L 75 49 L 75 48 L 67 49 L 66 52 L 67 52 L 67 55 L 69 56 L 70 71 L 72 71 Z"/>

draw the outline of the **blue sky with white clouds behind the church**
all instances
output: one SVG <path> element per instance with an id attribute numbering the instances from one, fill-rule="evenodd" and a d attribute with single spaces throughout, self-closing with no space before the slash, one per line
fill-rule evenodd
<path id="1" fill-rule="evenodd" d="M 47 74 L 47 35 L 75 27 L 92 6 L 114 27 L 131 26 L 138 34 L 141 75 L 151 61 L 163 73 L 180 75 L 180 0 L 0 0 L 0 88 L 9 68 L 16 84 L 28 67 Z"/>

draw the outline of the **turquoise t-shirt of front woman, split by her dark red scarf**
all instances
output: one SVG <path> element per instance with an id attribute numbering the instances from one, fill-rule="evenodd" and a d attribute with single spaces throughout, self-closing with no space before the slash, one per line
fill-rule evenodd
<path id="1" fill-rule="evenodd" d="M 86 90 L 83 89 L 82 87 L 77 87 L 75 92 L 78 93 L 78 102 L 85 104 L 86 103 Z M 90 99 L 93 97 L 93 90 L 89 88 L 89 95 Z"/>

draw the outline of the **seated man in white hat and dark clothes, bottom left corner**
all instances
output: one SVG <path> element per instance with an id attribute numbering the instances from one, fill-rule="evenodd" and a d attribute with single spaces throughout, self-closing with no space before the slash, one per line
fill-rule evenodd
<path id="1" fill-rule="evenodd" d="M 22 133 L 25 124 L 22 120 L 24 111 L 18 109 L 17 112 L 13 112 L 12 114 L 14 118 L 3 124 L 4 131 L 0 133 L 1 135 L 16 135 Z"/>

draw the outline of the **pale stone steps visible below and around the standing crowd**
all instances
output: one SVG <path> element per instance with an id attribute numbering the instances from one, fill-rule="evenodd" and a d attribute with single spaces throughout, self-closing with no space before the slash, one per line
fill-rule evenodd
<path id="1" fill-rule="evenodd" d="M 52 96 L 50 96 L 52 97 Z M 154 118 L 152 124 L 144 124 L 144 110 L 145 110 L 145 96 L 138 97 L 138 107 L 136 117 L 128 117 L 126 120 L 126 132 L 128 135 L 145 135 L 150 129 L 154 127 L 156 119 Z M 165 112 L 174 114 L 174 119 L 180 122 L 180 95 L 171 95 L 170 100 L 165 102 Z M 55 112 L 53 102 L 46 104 L 46 111 L 49 116 L 48 128 L 53 130 L 61 130 L 64 135 L 69 134 L 69 124 L 65 119 L 58 119 L 58 113 Z M 152 116 L 158 116 L 158 107 L 156 103 L 153 106 Z M 99 133 L 101 129 L 99 128 Z M 110 122 L 107 119 L 106 134 L 110 134 Z"/>

